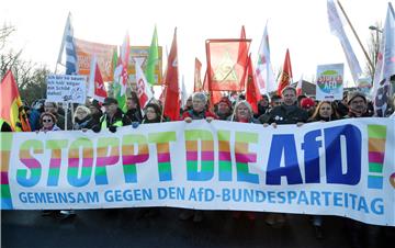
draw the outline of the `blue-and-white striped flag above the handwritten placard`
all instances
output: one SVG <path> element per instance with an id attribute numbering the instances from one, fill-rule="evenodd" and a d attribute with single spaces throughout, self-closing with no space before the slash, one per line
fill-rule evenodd
<path id="1" fill-rule="evenodd" d="M 71 25 L 71 13 L 69 13 L 67 16 L 64 36 L 61 38 L 61 45 L 57 60 L 58 64 L 61 64 L 61 57 L 65 47 L 66 47 L 66 75 L 77 75 L 78 74 L 77 50 L 76 50 L 76 43 L 74 40 L 74 29 Z"/>

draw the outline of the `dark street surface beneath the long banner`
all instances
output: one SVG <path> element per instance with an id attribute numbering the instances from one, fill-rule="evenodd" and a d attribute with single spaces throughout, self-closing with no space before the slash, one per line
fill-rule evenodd
<path id="1" fill-rule="evenodd" d="M 272 227 L 262 213 L 251 222 L 234 218 L 232 212 L 205 212 L 199 224 L 179 221 L 179 208 L 161 208 L 158 216 L 140 217 L 137 208 L 89 210 L 58 219 L 40 211 L 2 211 L 1 247 L 350 247 L 340 217 L 324 218 L 325 239 L 318 240 L 306 215 L 287 215 L 285 226 Z M 382 229 L 379 247 L 393 248 L 393 244 L 394 228 Z"/>

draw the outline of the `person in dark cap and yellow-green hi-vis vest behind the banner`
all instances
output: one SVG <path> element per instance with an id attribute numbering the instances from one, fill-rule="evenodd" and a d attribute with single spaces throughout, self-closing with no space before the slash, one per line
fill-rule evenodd
<path id="1" fill-rule="evenodd" d="M 104 103 L 105 112 L 100 119 L 99 125 L 92 127 L 93 132 L 100 132 L 109 128 L 110 132 L 115 133 L 116 127 L 131 125 L 131 120 L 122 112 L 117 105 L 117 101 L 113 98 L 105 98 Z"/>

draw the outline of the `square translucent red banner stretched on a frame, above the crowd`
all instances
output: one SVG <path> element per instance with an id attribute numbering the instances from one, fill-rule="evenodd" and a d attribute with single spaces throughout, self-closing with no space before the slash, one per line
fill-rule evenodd
<path id="1" fill-rule="evenodd" d="M 207 40 L 207 82 L 211 91 L 242 91 L 251 40 Z M 242 48 L 245 47 L 245 48 Z"/>

